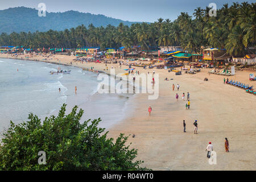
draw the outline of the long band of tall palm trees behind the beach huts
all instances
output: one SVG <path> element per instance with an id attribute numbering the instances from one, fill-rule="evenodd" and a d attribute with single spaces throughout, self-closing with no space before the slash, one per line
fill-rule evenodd
<path id="1" fill-rule="evenodd" d="M 158 46 L 182 46 L 189 52 L 199 52 L 201 46 L 225 48 L 232 55 L 243 53 L 255 46 L 255 3 L 225 4 L 217 10 L 217 16 L 209 16 L 209 7 L 198 7 L 193 13 L 181 13 L 174 22 L 158 19 L 154 23 L 136 23 L 118 27 L 111 25 L 88 28 L 84 25 L 64 31 L 20 32 L 0 36 L 0 45 L 25 46 L 27 48 L 77 48 L 84 46 L 142 49 Z"/>

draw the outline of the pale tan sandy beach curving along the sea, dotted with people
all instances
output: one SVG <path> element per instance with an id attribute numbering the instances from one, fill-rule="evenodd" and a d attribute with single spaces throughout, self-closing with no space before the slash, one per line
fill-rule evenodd
<path id="1" fill-rule="evenodd" d="M 30 59 L 45 61 L 46 57 L 28 55 L 12 57 L 0 54 L 2 58 Z M 74 56 L 55 55 L 47 60 L 50 63 L 72 65 L 81 68 L 94 67 L 106 71 L 105 63 L 79 63 Z M 128 68 L 119 64 L 116 73 L 125 73 Z M 152 73 L 152 69 L 135 67 L 140 73 Z M 16 68 L 14 68 L 16 69 Z M 109 137 L 116 138 L 119 133 L 133 135 L 128 143 L 138 149 L 137 160 L 144 160 L 143 166 L 153 170 L 255 170 L 256 169 L 256 97 L 235 86 L 226 85 L 224 76 L 209 74 L 210 69 L 203 69 L 195 75 L 175 75 L 166 69 L 155 69 L 159 73 L 159 98 L 148 100 L 147 94 L 137 94 L 129 101 L 127 114 L 122 122 L 109 129 Z M 236 80 L 253 85 L 249 81 L 252 71 L 236 71 L 229 80 Z M 173 80 L 164 81 L 164 78 Z M 204 81 L 207 77 L 209 81 Z M 226 76 L 225 76 L 226 77 Z M 173 91 L 171 86 L 175 84 Z M 179 91 L 176 85 L 180 85 Z M 79 88 L 79 85 L 77 86 Z M 190 93 L 191 108 L 185 109 L 187 101 L 181 100 L 181 94 Z M 175 99 L 179 94 L 179 101 Z M 151 116 L 147 108 L 152 107 Z M 183 133 L 183 119 L 187 124 L 187 133 Z M 197 119 L 198 133 L 193 133 L 193 122 Z M 229 139 L 230 152 L 225 152 L 224 140 Z M 217 164 L 208 163 L 205 148 L 212 142 L 217 153 Z"/>

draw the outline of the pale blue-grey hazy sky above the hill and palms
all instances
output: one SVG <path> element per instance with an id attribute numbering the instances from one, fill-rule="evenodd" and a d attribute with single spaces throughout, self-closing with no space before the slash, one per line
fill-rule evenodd
<path id="1" fill-rule="evenodd" d="M 181 12 L 192 15 L 196 7 L 205 8 L 209 3 L 216 3 L 217 9 L 220 9 L 225 3 L 230 6 L 233 2 L 244 0 L 0 0 L 0 10 L 18 6 L 38 9 L 39 3 L 45 3 L 48 12 L 75 10 L 122 20 L 155 22 L 158 18 L 174 20 Z"/>

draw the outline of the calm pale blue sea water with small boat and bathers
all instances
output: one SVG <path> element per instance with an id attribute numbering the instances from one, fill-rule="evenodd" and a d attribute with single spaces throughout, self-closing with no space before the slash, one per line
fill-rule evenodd
<path id="1" fill-rule="evenodd" d="M 71 74 L 49 73 L 59 67 L 71 70 Z M 100 127 L 111 127 L 124 117 L 131 95 L 100 94 L 97 87 L 97 73 L 81 68 L 0 59 L 0 132 L 10 125 L 10 120 L 16 124 L 27 121 L 29 113 L 38 115 L 41 121 L 57 115 L 64 103 L 67 114 L 75 105 L 84 110 L 81 122 L 101 118 Z"/>

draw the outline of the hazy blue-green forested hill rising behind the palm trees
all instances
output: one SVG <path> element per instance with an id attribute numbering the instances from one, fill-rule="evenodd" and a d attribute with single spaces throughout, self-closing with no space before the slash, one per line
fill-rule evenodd
<path id="1" fill-rule="evenodd" d="M 84 24 L 86 27 L 90 23 L 94 26 L 106 27 L 108 24 L 118 26 L 119 23 L 131 25 L 134 22 L 123 21 L 121 19 L 110 18 L 105 15 L 94 15 L 90 13 L 80 13 L 79 11 L 66 11 L 64 13 L 46 13 L 45 17 L 38 16 L 38 10 L 27 7 L 14 7 L 0 10 L 0 34 L 6 32 L 36 32 L 48 31 L 50 29 L 61 31 L 65 28 L 77 27 Z"/>

